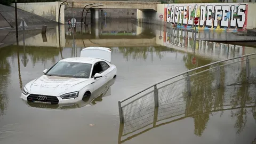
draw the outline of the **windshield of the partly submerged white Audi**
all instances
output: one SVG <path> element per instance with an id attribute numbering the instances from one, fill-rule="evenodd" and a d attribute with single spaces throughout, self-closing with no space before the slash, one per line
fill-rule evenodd
<path id="1" fill-rule="evenodd" d="M 58 62 L 45 75 L 89 78 L 92 64 L 79 62 Z"/>

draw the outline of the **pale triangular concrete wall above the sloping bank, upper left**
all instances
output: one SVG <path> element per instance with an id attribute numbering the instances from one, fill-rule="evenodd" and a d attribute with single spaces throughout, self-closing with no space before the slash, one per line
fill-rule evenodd
<path id="1" fill-rule="evenodd" d="M 41 2 L 41 3 L 17 3 L 18 9 L 40 15 L 44 18 L 51 19 L 58 22 L 59 7 L 61 2 Z M 11 4 L 15 6 L 15 4 Z M 65 5 L 61 6 L 60 22 L 64 23 Z"/>

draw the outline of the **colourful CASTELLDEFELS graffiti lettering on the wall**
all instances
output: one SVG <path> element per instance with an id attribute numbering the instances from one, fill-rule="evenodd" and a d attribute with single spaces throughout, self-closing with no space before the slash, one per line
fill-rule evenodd
<path id="1" fill-rule="evenodd" d="M 247 3 L 166 4 L 164 20 L 174 27 L 198 29 L 243 29 L 247 22 Z"/>

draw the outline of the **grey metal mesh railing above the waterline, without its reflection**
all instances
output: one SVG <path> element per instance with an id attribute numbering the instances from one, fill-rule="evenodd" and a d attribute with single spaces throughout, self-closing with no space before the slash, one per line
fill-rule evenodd
<path id="1" fill-rule="evenodd" d="M 198 89 L 212 89 L 214 87 L 219 89 L 241 82 L 254 83 L 256 82 L 256 75 L 254 74 L 256 71 L 255 56 L 256 53 L 242 55 L 191 69 L 118 101 L 120 123 L 124 123 L 124 116 L 127 119 L 132 118 L 137 113 L 134 112 L 134 109 L 142 109 L 140 113 L 147 113 L 151 108 L 163 106 L 172 99 L 191 97 L 191 95 L 197 94 Z M 140 95 L 142 96 L 140 97 Z M 132 100 L 132 98 L 135 99 Z M 132 101 L 127 102 L 129 100 Z M 122 106 L 123 102 L 127 103 Z M 144 109 L 148 105 L 151 107 Z"/>

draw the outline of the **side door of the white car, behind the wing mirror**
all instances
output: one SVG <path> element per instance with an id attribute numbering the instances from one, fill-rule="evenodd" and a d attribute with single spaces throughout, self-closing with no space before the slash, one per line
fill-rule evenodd
<path id="1" fill-rule="evenodd" d="M 101 67 L 101 65 L 100 65 L 100 62 L 94 63 L 93 69 L 92 69 L 92 75 L 91 75 L 91 78 L 93 78 L 92 81 L 94 81 L 94 82 L 92 82 L 92 86 L 93 86 L 93 88 L 94 88 L 94 91 L 97 90 L 97 89 L 99 89 L 99 87 L 100 87 L 100 86 L 104 83 L 104 81 L 105 81 L 105 78 L 104 78 L 103 75 L 102 75 L 102 77 L 98 77 L 98 78 L 94 79 L 94 75 L 95 75 L 96 73 L 102 74 L 102 72 L 103 72 L 103 70 L 102 70 L 102 67 Z"/>

